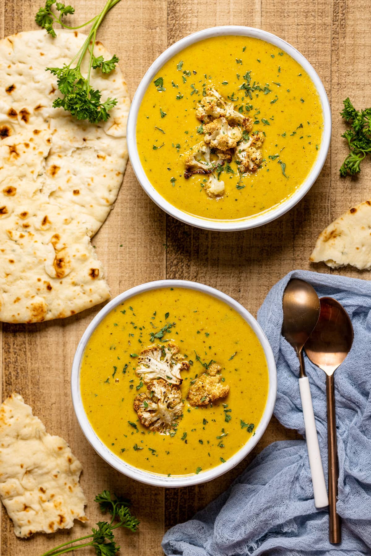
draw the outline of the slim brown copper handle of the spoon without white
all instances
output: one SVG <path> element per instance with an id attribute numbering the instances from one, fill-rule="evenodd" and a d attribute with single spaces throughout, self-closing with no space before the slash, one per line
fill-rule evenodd
<path id="1" fill-rule="evenodd" d="M 335 386 L 334 375 L 326 375 L 326 395 L 327 395 L 327 441 L 329 453 L 329 540 L 330 543 L 339 544 L 342 542 L 342 524 L 340 516 L 336 511 L 338 495 L 338 447 L 336 439 L 336 418 L 335 418 Z"/>

